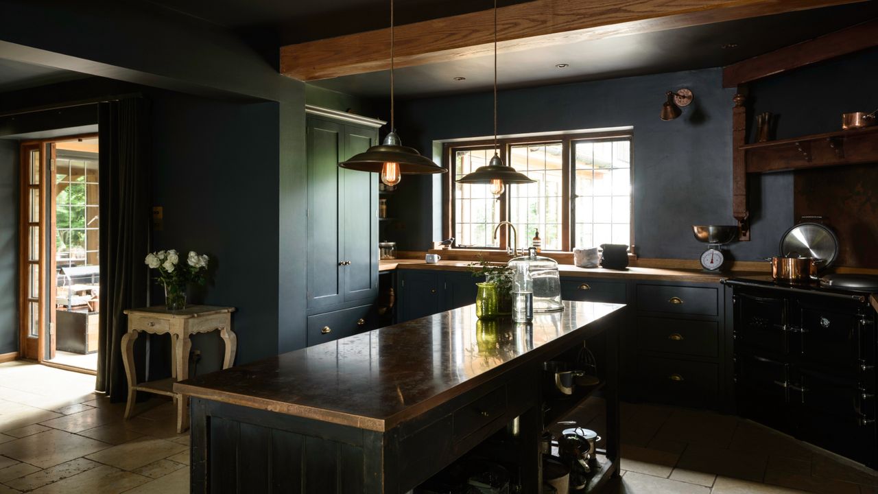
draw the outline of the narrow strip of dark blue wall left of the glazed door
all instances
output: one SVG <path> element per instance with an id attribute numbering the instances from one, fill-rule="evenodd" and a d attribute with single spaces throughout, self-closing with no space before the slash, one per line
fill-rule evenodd
<path id="1" fill-rule="evenodd" d="M 18 352 L 18 142 L 0 139 L 0 354 Z"/>

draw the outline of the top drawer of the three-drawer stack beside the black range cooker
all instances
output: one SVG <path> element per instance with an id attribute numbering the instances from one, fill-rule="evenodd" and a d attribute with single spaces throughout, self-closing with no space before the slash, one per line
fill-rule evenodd
<path id="1" fill-rule="evenodd" d="M 637 285 L 637 309 L 649 312 L 716 316 L 718 290 L 710 287 Z"/>

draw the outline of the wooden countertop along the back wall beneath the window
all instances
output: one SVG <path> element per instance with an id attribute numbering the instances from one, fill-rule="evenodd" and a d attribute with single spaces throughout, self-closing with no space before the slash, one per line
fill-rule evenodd
<path id="1" fill-rule="evenodd" d="M 393 259 L 381 261 L 380 271 L 393 269 L 437 269 L 442 271 L 469 271 L 472 261 L 439 261 L 427 264 L 423 259 Z M 385 264 L 386 263 L 386 264 Z M 677 280 L 694 282 L 719 282 L 731 276 L 753 276 L 764 272 L 736 271 L 732 273 L 703 272 L 695 269 L 667 269 L 656 267 L 628 267 L 624 270 L 604 269 L 602 267 L 585 268 L 575 265 L 558 265 L 558 273 L 564 277 L 603 278 L 608 280 Z"/>

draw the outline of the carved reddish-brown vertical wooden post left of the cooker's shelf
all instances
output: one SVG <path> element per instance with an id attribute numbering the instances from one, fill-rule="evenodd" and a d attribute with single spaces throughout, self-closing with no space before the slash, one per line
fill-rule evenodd
<path id="1" fill-rule="evenodd" d="M 738 86 L 738 94 L 731 109 L 731 209 L 738 220 L 738 240 L 750 240 L 750 211 L 747 210 L 747 163 L 744 146 L 747 143 L 746 88 Z"/>

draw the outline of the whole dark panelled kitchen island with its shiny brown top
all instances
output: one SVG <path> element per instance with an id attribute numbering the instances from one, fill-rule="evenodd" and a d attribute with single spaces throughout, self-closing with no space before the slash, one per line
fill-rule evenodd
<path id="1" fill-rule="evenodd" d="M 191 396 L 191 492 L 402 494 L 479 448 L 539 492 L 543 420 L 587 397 L 547 402 L 543 362 L 587 340 L 607 403 L 599 490 L 618 476 L 625 306 L 564 304 L 527 324 L 466 306 L 176 383 Z"/>

